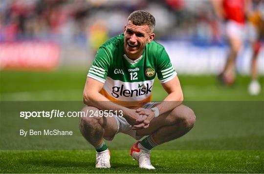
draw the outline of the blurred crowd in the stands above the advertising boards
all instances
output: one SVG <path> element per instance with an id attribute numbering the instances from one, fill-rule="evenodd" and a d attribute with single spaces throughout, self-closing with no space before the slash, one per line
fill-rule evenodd
<path id="1" fill-rule="evenodd" d="M 156 39 L 220 42 L 211 2 L 199 0 L 1 0 L 1 41 L 52 39 L 96 48 L 122 33 L 137 9 L 156 18 Z"/>

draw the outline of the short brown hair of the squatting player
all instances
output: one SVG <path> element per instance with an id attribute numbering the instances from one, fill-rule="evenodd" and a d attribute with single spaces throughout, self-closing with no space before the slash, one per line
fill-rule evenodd
<path id="1" fill-rule="evenodd" d="M 148 25 L 150 27 L 151 32 L 154 31 L 155 26 L 155 18 L 150 14 L 149 12 L 143 11 L 143 10 L 136 10 L 133 11 L 129 17 L 128 21 L 132 21 L 134 25 Z"/>

